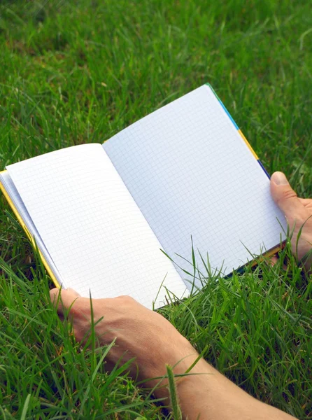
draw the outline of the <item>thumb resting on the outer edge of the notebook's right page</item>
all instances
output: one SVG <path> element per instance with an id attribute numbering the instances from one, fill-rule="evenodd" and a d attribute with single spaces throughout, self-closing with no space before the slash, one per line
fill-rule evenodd
<path id="1" fill-rule="evenodd" d="M 271 195 L 287 218 L 293 218 L 302 210 L 303 204 L 283 172 L 274 172 L 271 176 Z"/>

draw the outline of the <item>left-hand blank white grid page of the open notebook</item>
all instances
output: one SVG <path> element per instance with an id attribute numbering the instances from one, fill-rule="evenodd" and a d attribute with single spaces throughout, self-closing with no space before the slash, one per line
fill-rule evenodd
<path id="1" fill-rule="evenodd" d="M 64 280 L 83 296 L 131 295 L 152 307 L 164 284 L 185 284 L 100 144 L 74 146 L 7 167 Z M 164 287 L 155 306 L 165 301 Z"/>

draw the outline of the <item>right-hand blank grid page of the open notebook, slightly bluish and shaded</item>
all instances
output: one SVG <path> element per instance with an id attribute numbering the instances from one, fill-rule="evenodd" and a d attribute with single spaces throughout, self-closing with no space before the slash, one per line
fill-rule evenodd
<path id="1" fill-rule="evenodd" d="M 164 250 L 184 268 L 192 267 L 175 254 L 192 260 L 191 235 L 224 274 L 280 243 L 285 218 L 269 179 L 207 85 L 103 147 Z M 198 252 L 197 262 L 204 274 Z"/>

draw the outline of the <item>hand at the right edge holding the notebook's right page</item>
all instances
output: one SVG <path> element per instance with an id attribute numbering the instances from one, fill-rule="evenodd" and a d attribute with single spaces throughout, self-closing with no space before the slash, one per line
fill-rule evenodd
<path id="1" fill-rule="evenodd" d="M 292 232 L 292 252 L 299 260 L 312 249 L 312 199 L 299 198 L 292 190 L 283 172 L 271 176 L 271 195 L 283 211 Z M 297 244 L 299 231 L 302 229 Z M 311 268 L 312 255 L 304 261 L 306 269 Z"/>

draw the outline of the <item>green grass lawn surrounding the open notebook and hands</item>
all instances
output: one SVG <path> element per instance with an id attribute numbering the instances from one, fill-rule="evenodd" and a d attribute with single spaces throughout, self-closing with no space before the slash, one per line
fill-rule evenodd
<path id="1" fill-rule="evenodd" d="M 0 167 L 103 142 L 209 82 L 268 171 L 311 197 L 311 27 L 307 1 L 2 2 Z M 127 366 L 107 374 L 106 349 L 74 342 L 41 262 L 0 205 L 0 418 L 163 419 Z M 202 293 L 163 312 L 236 384 L 311 419 L 309 298 L 311 278 L 289 258 L 286 271 L 262 263 L 208 276 Z"/>

